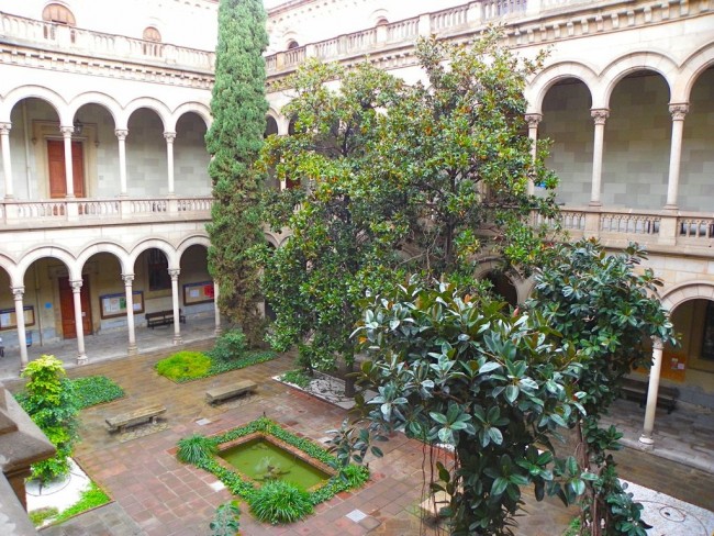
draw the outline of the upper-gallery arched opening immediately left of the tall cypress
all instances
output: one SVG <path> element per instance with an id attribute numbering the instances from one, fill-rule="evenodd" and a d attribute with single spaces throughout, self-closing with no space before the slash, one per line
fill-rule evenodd
<path id="1" fill-rule="evenodd" d="M 205 122 L 193 112 L 181 115 L 176 123 L 174 142 L 174 181 L 176 193 L 210 196 L 211 155 L 205 149 Z"/>

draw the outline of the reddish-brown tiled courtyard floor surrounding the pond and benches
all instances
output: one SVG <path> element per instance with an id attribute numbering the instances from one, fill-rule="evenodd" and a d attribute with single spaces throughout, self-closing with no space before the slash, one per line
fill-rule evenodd
<path id="1" fill-rule="evenodd" d="M 194 343 L 208 348 L 212 340 Z M 266 415 L 294 432 L 315 440 L 339 426 L 346 412 L 337 406 L 292 390 L 271 379 L 293 368 L 290 357 L 207 378 L 181 386 L 156 375 L 154 364 L 166 350 L 121 360 L 99 361 L 69 370 L 71 377 L 104 375 L 126 391 L 126 398 L 81 413 L 81 442 L 76 460 L 104 488 L 114 503 L 83 514 L 63 525 L 44 529 L 44 536 L 124 536 L 210 534 L 208 524 L 215 507 L 232 499 L 226 490 L 216 491 L 216 479 L 204 471 L 179 464 L 169 450 L 179 438 L 194 432 L 214 434 Z M 258 383 L 258 394 L 245 402 L 228 402 L 216 407 L 204 402 L 205 390 L 238 379 Z M 11 382 L 8 382 L 11 383 Z M 12 387 L 9 384 L 8 387 Z M 104 418 L 147 404 L 167 407 L 166 429 L 122 442 L 110 435 Z M 200 425 L 198 421 L 209 421 Z M 386 456 L 372 460 L 373 479 L 353 493 L 344 493 L 320 505 L 316 514 L 288 526 L 255 522 L 242 507 L 242 534 L 260 535 L 433 535 L 434 527 L 422 525 L 416 507 L 423 493 L 422 445 L 395 435 L 386 444 Z M 618 454 L 622 476 L 687 502 L 711 509 L 714 504 L 712 476 L 648 454 L 625 449 Z M 367 517 L 359 522 L 346 515 L 359 510 Z M 561 534 L 572 513 L 555 501 L 526 499 L 527 515 L 520 518 L 517 534 L 555 536 Z"/>

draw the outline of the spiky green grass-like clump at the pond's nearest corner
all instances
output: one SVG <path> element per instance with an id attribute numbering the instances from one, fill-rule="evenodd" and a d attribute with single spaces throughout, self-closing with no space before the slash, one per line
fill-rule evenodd
<path id="1" fill-rule="evenodd" d="M 263 484 L 249 499 L 250 512 L 260 521 L 293 523 L 312 513 L 310 494 L 282 480 Z"/>

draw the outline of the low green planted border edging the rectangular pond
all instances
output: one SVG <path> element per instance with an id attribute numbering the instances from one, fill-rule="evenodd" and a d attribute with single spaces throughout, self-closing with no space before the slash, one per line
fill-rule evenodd
<path id="1" fill-rule="evenodd" d="M 310 439 L 304 437 L 299 437 L 290 432 L 281 428 L 277 423 L 270 421 L 266 417 L 257 418 L 245 426 L 238 426 L 237 428 L 230 429 L 228 432 L 207 437 L 214 446 L 219 446 L 223 443 L 237 439 L 238 437 L 245 437 L 255 432 L 261 432 L 264 434 L 269 434 L 278 439 L 283 440 L 288 445 L 291 445 L 303 453 L 305 453 L 311 458 L 322 461 L 331 467 L 338 468 L 337 459 L 327 453 L 323 447 L 316 445 Z M 182 439 L 183 440 L 183 439 Z M 191 436 L 191 440 L 194 442 L 194 436 Z M 225 487 L 231 490 L 231 493 L 234 495 L 242 496 L 248 504 L 252 506 L 257 504 L 258 491 L 260 488 L 256 488 L 255 483 L 248 480 L 244 480 L 243 477 L 231 469 L 226 469 L 220 465 L 215 457 L 213 456 L 200 456 L 194 462 L 196 467 L 203 469 L 213 473 L 219 480 L 221 480 Z M 315 506 L 322 502 L 328 501 L 337 493 L 346 491 L 354 488 L 359 488 L 369 479 L 369 469 L 362 466 L 348 466 L 345 470 L 345 473 L 336 474 L 332 477 L 324 485 L 320 488 L 305 492 L 306 501 L 310 505 Z M 279 490 L 276 493 L 283 493 L 285 490 Z M 302 512 L 302 516 L 308 515 L 311 509 L 299 509 Z M 270 523 L 285 523 L 280 518 L 268 518 Z M 293 520 L 294 521 L 294 520 Z"/>

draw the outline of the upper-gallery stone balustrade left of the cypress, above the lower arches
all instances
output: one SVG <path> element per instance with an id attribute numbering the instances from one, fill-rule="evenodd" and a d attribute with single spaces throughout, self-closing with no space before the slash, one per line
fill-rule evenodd
<path id="1" fill-rule="evenodd" d="M 122 199 L 63 199 L 0 202 L 2 223 L 9 227 L 22 225 L 52 225 L 54 222 L 122 223 L 125 220 L 145 221 L 160 216 L 185 219 L 192 214 L 199 220 L 211 217 L 213 198 L 122 198 Z M 1 231 L 1 228 L 0 228 Z"/>

